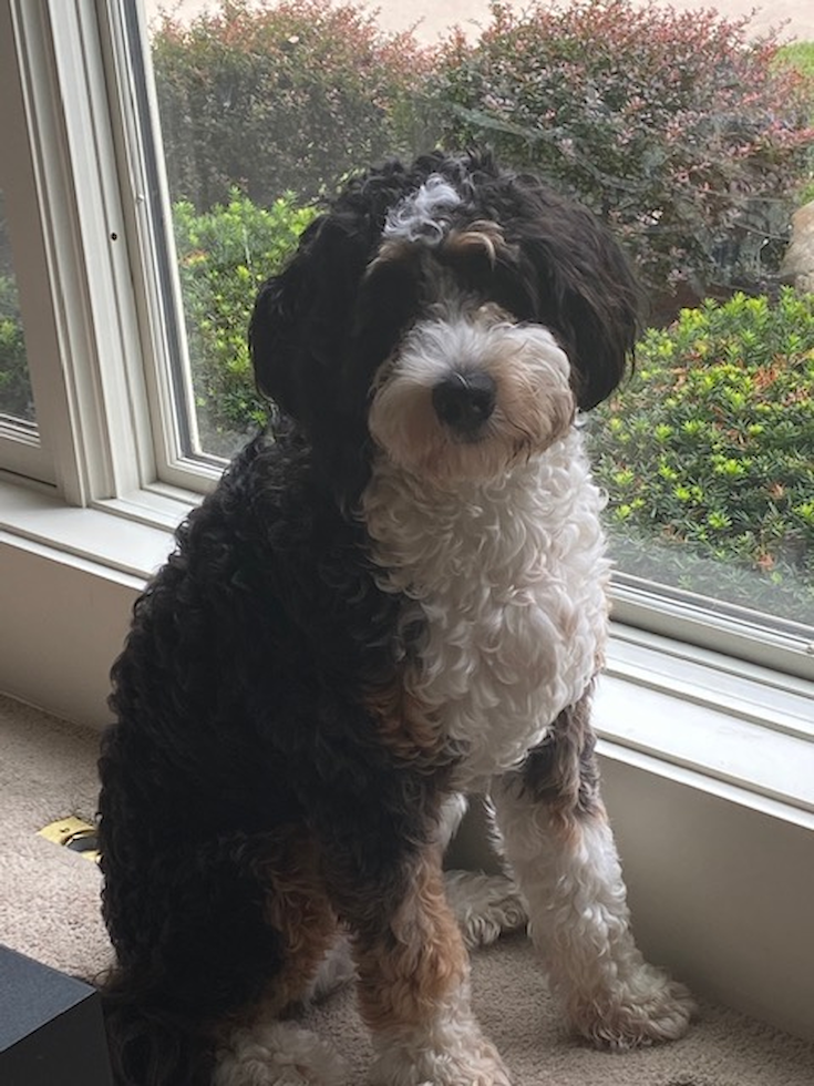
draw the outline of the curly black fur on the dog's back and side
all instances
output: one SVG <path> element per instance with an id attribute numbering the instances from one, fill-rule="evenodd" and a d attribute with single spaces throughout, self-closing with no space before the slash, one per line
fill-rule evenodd
<path id="1" fill-rule="evenodd" d="M 275 829 L 308 824 L 327 851 L 364 841 L 371 870 L 357 877 L 379 884 L 426 839 L 445 767 L 433 780 L 396 765 L 361 700 L 404 652 L 400 602 L 364 552 L 284 426 L 237 458 L 135 605 L 100 762 L 119 959 L 106 1004 L 124 1083 L 206 1082 L 208 1064 L 196 1077 L 186 1061 L 208 1025 L 279 969 L 257 873 Z"/>

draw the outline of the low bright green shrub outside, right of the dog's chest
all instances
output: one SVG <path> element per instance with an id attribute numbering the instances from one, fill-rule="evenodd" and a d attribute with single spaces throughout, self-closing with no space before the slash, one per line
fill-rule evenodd
<path id="1" fill-rule="evenodd" d="M 633 378 L 590 430 L 620 539 L 802 584 L 811 621 L 814 295 L 784 288 L 771 304 L 738 294 L 648 330 Z"/>

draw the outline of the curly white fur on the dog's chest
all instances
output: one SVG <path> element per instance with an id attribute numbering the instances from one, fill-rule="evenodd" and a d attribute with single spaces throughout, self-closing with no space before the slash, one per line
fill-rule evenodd
<path id="1" fill-rule="evenodd" d="M 601 505 L 576 430 L 502 479 L 454 491 L 384 459 L 374 470 L 363 510 L 380 584 L 413 601 L 424 625 L 405 682 L 468 750 L 462 788 L 519 765 L 601 662 Z"/>

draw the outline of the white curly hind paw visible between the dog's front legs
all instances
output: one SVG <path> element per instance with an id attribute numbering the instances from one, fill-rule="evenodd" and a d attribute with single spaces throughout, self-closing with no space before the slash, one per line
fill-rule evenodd
<path id="1" fill-rule="evenodd" d="M 517 885 L 504 875 L 447 871 L 444 887 L 470 949 L 488 946 L 504 932 L 517 931 L 528 923 L 526 904 Z"/>

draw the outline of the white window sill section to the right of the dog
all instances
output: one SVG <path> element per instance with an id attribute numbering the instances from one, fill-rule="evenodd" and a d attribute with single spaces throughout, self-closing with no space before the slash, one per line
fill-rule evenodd
<path id="1" fill-rule="evenodd" d="M 631 752 L 814 827 L 814 685 L 615 625 L 596 726 Z"/>

